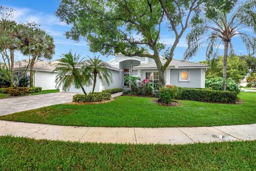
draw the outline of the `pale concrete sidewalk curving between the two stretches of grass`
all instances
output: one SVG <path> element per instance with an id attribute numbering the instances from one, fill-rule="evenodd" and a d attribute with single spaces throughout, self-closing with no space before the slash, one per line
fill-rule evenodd
<path id="1" fill-rule="evenodd" d="M 0 136 L 3 135 L 30 137 L 37 140 L 98 143 L 188 144 L 256 140 L 256 124 L 189 128 L 112 128 L 57 126 L 0 120 Z"/>

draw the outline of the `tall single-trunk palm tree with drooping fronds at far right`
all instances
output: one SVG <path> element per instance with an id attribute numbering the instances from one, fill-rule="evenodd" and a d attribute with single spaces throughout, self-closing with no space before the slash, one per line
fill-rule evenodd
<path id="1" fill-rule="evenodd" d="M 196 55 L 198 48 L 206 41 L 206 59 L 214 61 L 218 58 L 220 44 L 224 44 L 223 91 L 226 91 L 228 52 L 234 54 L 232 38 L 239 36 L 249 54 L 256 52 L 256 38 L 243 30 L 249 28 L 254 34 L 256 33 L 255 6 L 256 1 L 250 0 L 230 13 L 216 11 L 217 15 L 215 17 L 202 19 L 202 22 L 196 25 L 187 35 L 188 48 L 184 54 L 186 60 Z"/>

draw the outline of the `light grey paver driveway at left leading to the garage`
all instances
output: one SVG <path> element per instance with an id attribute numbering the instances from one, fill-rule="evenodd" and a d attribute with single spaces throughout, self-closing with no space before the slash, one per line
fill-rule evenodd
<path id="1" fill-rule="evenodd" d="M 0 115 L 71 102 L 73 95 L 73 93 L 49 93 L 0 99 Z"/>

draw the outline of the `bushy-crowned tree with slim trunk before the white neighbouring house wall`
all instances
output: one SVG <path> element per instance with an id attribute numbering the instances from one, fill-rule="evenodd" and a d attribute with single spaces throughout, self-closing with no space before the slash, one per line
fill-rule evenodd
<path id="1" fill-rule="evenodd" d="M 30 62 L 30 87 L 34 86 L 34 65 L 35 61 L 40 58 L 52 59 L 54 54 L 53 37 L 46 34 L 46 32 L 37 27 L 29 30 L 30 35 L 26 37 L 26 45 L 22 47 L 24 55 L 31 55 Z"/>

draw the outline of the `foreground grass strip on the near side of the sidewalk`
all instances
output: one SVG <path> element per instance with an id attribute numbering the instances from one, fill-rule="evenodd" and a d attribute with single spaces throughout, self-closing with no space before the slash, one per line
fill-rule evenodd
<path id="1" fill-rule="evenodd" d="M 0 137 L 0 170 L 254 170 L 256 141 L 95 144 Z"/>

